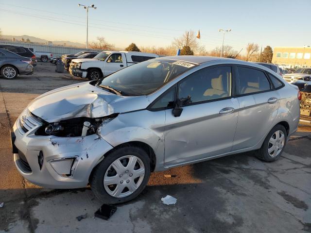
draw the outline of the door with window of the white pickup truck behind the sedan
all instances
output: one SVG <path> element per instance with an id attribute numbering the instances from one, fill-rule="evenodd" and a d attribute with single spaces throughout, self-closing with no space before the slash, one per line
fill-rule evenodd
<path id="1" fill-rule="evenodd" d="M 112 53 L 104 62 L 104 76 L 112 74 L 126 67 L 126 58 L 123 53 Z"/>

